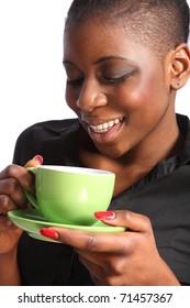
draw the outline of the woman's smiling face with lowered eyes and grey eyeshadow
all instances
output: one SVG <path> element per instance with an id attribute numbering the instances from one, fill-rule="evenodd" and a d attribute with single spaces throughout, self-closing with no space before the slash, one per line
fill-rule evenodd
<path id="1" fill-rule="evenodd" d="M 164 61 L 119 25 L 89 21 L 68 26 L 64 38 L 66 101 L 100 153 L 116 158 L 166 136 Z"/>

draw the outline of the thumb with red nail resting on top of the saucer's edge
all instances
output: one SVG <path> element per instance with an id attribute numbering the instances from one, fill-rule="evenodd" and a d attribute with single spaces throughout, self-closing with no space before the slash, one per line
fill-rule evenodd
<path id="1" fill-rule="evenodd" d="M 147 232 L 152 230 L 150 220 L 143 215 L 128 210 L 96 212 L 94 216 L 102 222 L 111 226 L 120 226 L 134 232 Z"/>

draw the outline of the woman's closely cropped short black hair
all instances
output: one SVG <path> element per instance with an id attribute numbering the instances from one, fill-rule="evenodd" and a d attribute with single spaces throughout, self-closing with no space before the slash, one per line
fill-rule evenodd
<path id="1" fill-rule="evenodd" d="M 123 24 L 134 41 L 158 55 L 188 43 L 190 10 L 186 0 L 74 0 L 65 29 L 92 19 Z"/>

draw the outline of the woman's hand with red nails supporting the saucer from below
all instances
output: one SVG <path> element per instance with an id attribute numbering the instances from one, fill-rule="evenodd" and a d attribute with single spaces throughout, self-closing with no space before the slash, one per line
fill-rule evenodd
<path id="1" fill-rule="evenodd" d="M 127 230 L 100 234 L 49 228 L 42 229 L 42 234 L 74 246 L 97 285 L 179 285 L 158 254 L 147 217 L 126 210 L 97 216 L 108 224 Z"/>

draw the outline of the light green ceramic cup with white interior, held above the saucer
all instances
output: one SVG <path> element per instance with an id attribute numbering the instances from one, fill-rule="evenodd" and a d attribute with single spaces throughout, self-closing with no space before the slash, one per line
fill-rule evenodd
<path id="1" fill-rule="evenodd" d="M 35 196 L 25 195 L 51 222 L 91 226 L 94 211 L 110 205 L 115 182 L 111 172 L 48 165 L 27 169 L 35 175 Z"/>

